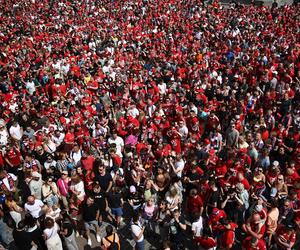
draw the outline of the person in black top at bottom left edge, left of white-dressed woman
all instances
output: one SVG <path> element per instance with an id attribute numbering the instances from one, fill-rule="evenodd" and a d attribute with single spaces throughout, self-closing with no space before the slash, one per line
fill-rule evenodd
<path id="1" fill-rule="evenodd" d="M 31 250 L 36 249 L 35 243 L 25 230 L 26 224 L 23 220 L 20 220 L 17 227 L 13 230 L 13 238 L 17 249 Z"/>

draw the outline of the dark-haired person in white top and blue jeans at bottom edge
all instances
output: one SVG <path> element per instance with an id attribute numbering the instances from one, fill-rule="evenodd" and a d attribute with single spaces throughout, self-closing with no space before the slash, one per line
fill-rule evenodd
<path id="1" fill-rule="evenodd" d="M 131 223 L 131 232 L 133 235 L 133 239 L 136 243 L 136 250 L 144 250 L 145 249 L 145 241 L 144 241 L 144 231 L 145 226 L 141 223 L 141 217 L 138 212 L 135 212 L 132 217 Z"/>

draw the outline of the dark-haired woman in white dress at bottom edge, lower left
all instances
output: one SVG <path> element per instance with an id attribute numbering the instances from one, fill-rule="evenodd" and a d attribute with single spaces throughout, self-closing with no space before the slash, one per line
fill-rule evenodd
<path id="1" fill-rule="evenodd" d="M 50 217 L 46 217 L 43 236 L 48 250 L 63 250 L 58 230 L 59 227 L 55 221 Z"/>

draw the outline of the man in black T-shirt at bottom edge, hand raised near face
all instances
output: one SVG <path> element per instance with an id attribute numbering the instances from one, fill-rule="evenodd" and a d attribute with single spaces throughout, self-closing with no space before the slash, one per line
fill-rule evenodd
<path id="1" fill-rule="evenodd" d="M 174 242 L 175 250 L 184 249 L 184 231 L 186 230 L 185 220 L 178 209 L 173 211 L 172 217 L 169 224 L 170 239 Z"/>

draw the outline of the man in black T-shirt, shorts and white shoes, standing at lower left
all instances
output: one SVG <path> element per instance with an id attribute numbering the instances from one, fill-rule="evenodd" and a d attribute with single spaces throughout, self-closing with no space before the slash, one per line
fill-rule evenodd
<path id="1" fill-rule="evenodd" d="M 99 215 L 100 215 L 99 208 L 95 203 L 94 197 L 89 196 L 82 206 L 82 219 L 84 221 L 84 228 L 85 228 L 85 233 L 88 239 L 89 246 L 92 245 L 92 240 L 90 237 L 91 229 L 96 230 L 97 242 L 101 241 L 100 228 L 98 227 Z"/>

